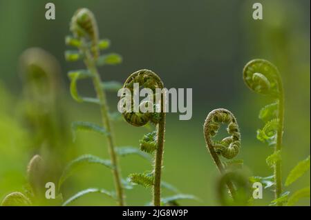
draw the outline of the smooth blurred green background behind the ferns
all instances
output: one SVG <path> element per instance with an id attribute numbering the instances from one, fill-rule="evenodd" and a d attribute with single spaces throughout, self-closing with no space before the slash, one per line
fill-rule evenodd
<path id="1" fill-rule="evenodd" d="M 178 114 L 167 115 L 163 179 L 181 192 L 194 194 L 201 201 L 180 201 L 189 206 L 218 206 L 218 172 L 205 148 L 202 124 L 214 108 L 227 108 L 238 119 L 242 133 L 243 159 L 252 174 L 266 177 L 272 170 L 265 158 L 273 149 L 256 139 L 263 123 L 258 111 L 272 100 L 259 96 L 244 85 L 243 66 L 254 58 L 263 58 L 278 66 L 285 87 L 285 131 L 283 141 L 283 182 L 288 172 L 310 154 L 310 1 L 52 1 L 56 19 L 44 17 L 49 1 L 0 0 L 0 200 L 6 194 L 23 190 L 26 166 L 35 146 L 31 132 L 19 117 L 23 99 L 18 62 L 30 47 L 44 48 L 53 54 L 62 68 L 62 114 L 66 119 L 59 130 L 68 130 L 70 122 L 100 123 L 98 106 L 75 103 L 69 94 L 68 70 L 83 68 L 82 62 L 66 63 L 64 37 L 77 8 L 91 9 L 97 19 L 100 37 L 111 39 L 109 51 L 122 54 L 120 66 L 100 68 L 104 81 L 124 82 L 135 70 L 148 68 L 158 73 L 167 88 L 193 88 L 193 117 L 179 121 Z M 252 19 L 252 5 L 263 3 L 263 20 Z M 82 94 L 94 95 L 91 81 L 79 83 Z M 117 94 L 109 94 L 116 110 Z M 146 128 L 134 128 L 125 122 L 114 124 L 117 146 L 138 146 Z M 71 137 L 69 137 L 70 139 Z M 66 141 L 69 161 L 91 153 L 108 158 L 106 140 L 97 134 L 79 132 L 77 141 Z M 121 158 L 122 174 L 150 170 L 137 156 Z M 56 162 L 55 162 L 56 163 Z M 310 170 L 286 188 L 294 192 L 310 186 Z M 64 188 L 68 198 L 88 187 L 113 189 L 111 172 L 97 165 L 86 166 L 73 174 Z M 163 191 L 163 195 L 171 192 Z M 144 205 L 151 192 L 137 186 L 126 191 L 128 204 Z M 264 190 L 255 205 L 267 205 L 273 192 Z M 114 206 L 101 194 L 89 194 L 73 203 L 79 206 Z M 310 206 L 310 199 L 299 205 Z"/>

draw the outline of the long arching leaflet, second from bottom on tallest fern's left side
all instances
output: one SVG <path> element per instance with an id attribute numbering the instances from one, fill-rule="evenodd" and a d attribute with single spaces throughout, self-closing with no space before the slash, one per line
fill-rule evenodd
<path id="1" fill-rule="evenodd" d="M 80 166 L 84 166 L 88 163 L 98 163 L 106 166 L 107 168 L 114 169 L 115 167 L 112 165 L 111 161 L 109 159 L 101 159 L 100 157 L 96 157 L 91 154 L 84 154 L 80 157 L 77 157 L 73 161 L 70 161 L 66 168 L 64 169 L 62 176 L 59 178 L 58 182 L 58 188 L 60 189 L 62 187 L 62 184 L 68 177 L 70 177 L 77 168 Z"/>

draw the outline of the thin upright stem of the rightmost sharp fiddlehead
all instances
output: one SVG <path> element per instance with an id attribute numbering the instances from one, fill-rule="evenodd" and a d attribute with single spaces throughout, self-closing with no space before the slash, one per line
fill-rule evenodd
<path id="1" fill-rule="evenodd" d="M 284 92 L 283 83 L 281 77 L 279 77 L 279 128 L 276 131 L 276 146 L 274 152 L 282 149 L 282 137 L 283 137 L 283 126 L 284 126 Z M 281 160 L 277 161 L 274 166 L 274 181 L 275 181 L 275 199 L 278 199 L 282 194 L 282 176 L 281 176 Z M 282 203 L 278 203 L 278 206 L 283 206 Z"/>

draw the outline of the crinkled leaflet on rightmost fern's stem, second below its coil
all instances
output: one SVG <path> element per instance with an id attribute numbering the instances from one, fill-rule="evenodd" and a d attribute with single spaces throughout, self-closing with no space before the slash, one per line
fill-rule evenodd
<path id="1" fill-rule="evenodd" d="M 257 139 L 263 143 L 268 143 L 269 146 L 276 144 L 276 131 L 278 128 L 278 119 L 272 119 L 271 121 L 268 121 L 263 129 L 257 130 Z"/>

